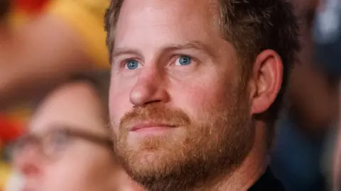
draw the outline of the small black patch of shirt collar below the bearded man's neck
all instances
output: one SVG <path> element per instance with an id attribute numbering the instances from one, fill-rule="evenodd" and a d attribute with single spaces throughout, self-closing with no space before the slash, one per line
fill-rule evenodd
<path id="1" fill-rule="evenodd" d="M 277 180 L 267 168 L 264 175 L 249 189 L 249 191 L 285 191 L 281 181 Z"/>

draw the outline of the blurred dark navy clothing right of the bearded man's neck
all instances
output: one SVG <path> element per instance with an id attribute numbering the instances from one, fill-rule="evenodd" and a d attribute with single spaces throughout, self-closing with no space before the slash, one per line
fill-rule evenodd
<path id="1" fill-rule="evenodd" d="M 270 168 L 286 190 L 325 190 L 325 178 L 320 168 L 324 144 L 323 139 L 309 139 L 289 111 L 283 110 L 276 123 Z"/>

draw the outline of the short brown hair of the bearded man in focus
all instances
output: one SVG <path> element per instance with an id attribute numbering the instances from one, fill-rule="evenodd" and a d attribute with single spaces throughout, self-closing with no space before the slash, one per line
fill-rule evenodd
<path id="1" fill-rule="evenodd" d="M 105 29 L 110 54 L 123 3 L 124 0 L 112 0 L 106 12 Z M 274 50 L 282 59 L 281 90 L 271 107 L 264 112 L 266 121 L 273 124 L 281 108 L 296 54 L 301 50 L 293 6 L 286 0 L 217 0 L 217 4 L 222 37 L 236 48 L 244 79 L 251 74 L 251 64 L 262 51 Z"/>

